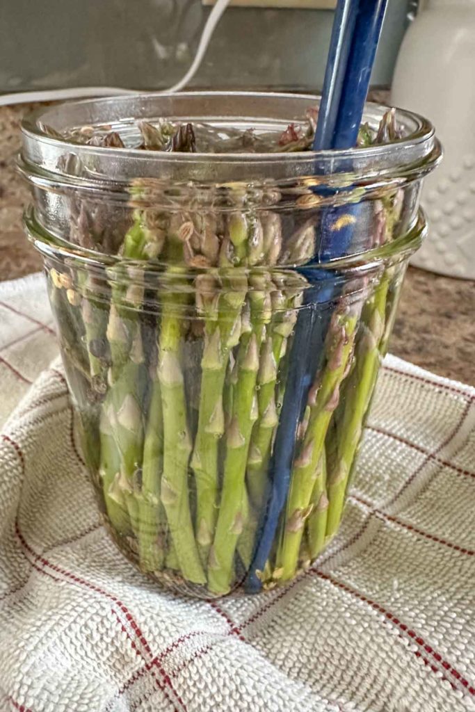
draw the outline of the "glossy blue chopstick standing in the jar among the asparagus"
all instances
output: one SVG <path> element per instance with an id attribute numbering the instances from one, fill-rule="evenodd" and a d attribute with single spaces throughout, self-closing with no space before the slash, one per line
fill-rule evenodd
<path id="1" fill-rule="evenodd" d="M 315 131 L 316 150 L 350 148 L 357 142 L 386 5 L 387 0 L 360 0 L 359 3 L 357 0 L 338 1 L 320 103 L 320 112 L 322 108 L 323 112 L 321 118 L 319 112 Z M 355 83 L 355 92 L 351 82 Z M 355 220 L 338 230 L 335 230 L 335 221 L 342 214 L 348 214 L 356 219 L 358 208 L 357 205 L 338 207 L 324 212 L 320 226 L 319 262 L 338 258 L 347 253 L 353 237 Z M 328 271 L 323 273 L 319 271 L 318 276 L 314 276 L 313 279 L 328 280 L 330 275 Z M 322 287 L 317 295 L 313 293 L 313 288 L 306 290 L 306 300 L 298 314 L 286 393 L 269 468 L 270 486 L 267 506 L 263 513 L 258 543 L 246 580 L 246 589 L 249 592 L 257 592 L 261 588 L 261 580 L 256 575 L 256 571 L 263 571 L 271 553 L 278 520 L 290 486 L 298 422 L 313 379 L 313 366 L 316 367 L 323 355 L 323 345 L 331 314 L 328 308 L 321 316 L 320 322 L 315 323 L 315 305 L 338 297 L 338 286 L 334 280 L 333 283 L 329 281 Z M 307 359 L 304 355 L 308 355 Z"/>

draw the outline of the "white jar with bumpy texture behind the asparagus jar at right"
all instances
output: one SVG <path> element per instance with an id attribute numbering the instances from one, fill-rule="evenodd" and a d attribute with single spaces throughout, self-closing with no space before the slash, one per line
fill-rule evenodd
<path id="1" fill-rule="evenodd" d="M 397 59 L 392 104 L 427 116 L 444 160 L 424 182 L 419 267 L 475 279 L 475 0 L 429 0 Z"/>

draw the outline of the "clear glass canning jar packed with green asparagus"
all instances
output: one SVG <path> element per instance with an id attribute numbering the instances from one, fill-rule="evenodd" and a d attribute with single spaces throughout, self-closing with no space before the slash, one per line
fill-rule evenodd
<path id="1" fill-rule="evenodd" d="M 182 593 L 285 585 L 337 533 L 440 147 L 400 110 L 396 140 L 318 153 L 137 150 L 137 121 L 259 135 L 315 103 L 144 95 L 23 125 L 26 229 L 105 523 Z M 90 127 L 125 147 L 76 143 Z"/>

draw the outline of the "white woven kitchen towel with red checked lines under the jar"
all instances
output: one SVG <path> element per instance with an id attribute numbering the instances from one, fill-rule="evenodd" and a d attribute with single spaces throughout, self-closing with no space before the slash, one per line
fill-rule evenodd
<path id="1" fill-rule="evenodd" d="M 330 550 L 207 603 L 101 525 L 39 276 L 0 289 L 0 347 L 2 712 L 475 709 L 475 389 L 387 358 Z"/>

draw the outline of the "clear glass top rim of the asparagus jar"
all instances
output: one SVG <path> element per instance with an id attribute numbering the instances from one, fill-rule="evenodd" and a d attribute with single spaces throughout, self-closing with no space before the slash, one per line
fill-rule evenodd
<path id="1" fill-rule="evenodd" d="M 282 125 L 305 115 L 306 108 L 319 102 L 315 95 L 259 92 L 184 92 L 147 93 L 87 99 L 36 110 L 21 123 L 23 149 L 21 167 L 28 179 L 68 179 L 71 186 L 108 180 L 110 184 L 130 183 L 134 178 L 164 178 L 209 182 L 256 181 L 259 179 L 296 179 L 341 173 L 342 165 L 351 166 L 355 180 L 377 177 L 385 182 L 417 179 L 432 170 L 441 148 L 434 127 L 414 112 L 396 109 L 396 120 L 404 135 L 397 140 L 348 150 L 323 150 L 276 153 L 182 153 L 157 152 L 137 148 L 95 147 L 51 137 L 44 125 L 59 132 L 80 125 L 119 121 L 157 120 L 278 120 Z M 365 105 L 363 121 L 377 125 L 389 107 Z M 58 159 L 66 153 L 95 162 L 95 174 L 80 178 Z M 348 173 L 347 173 L 348 174 Z"/>

